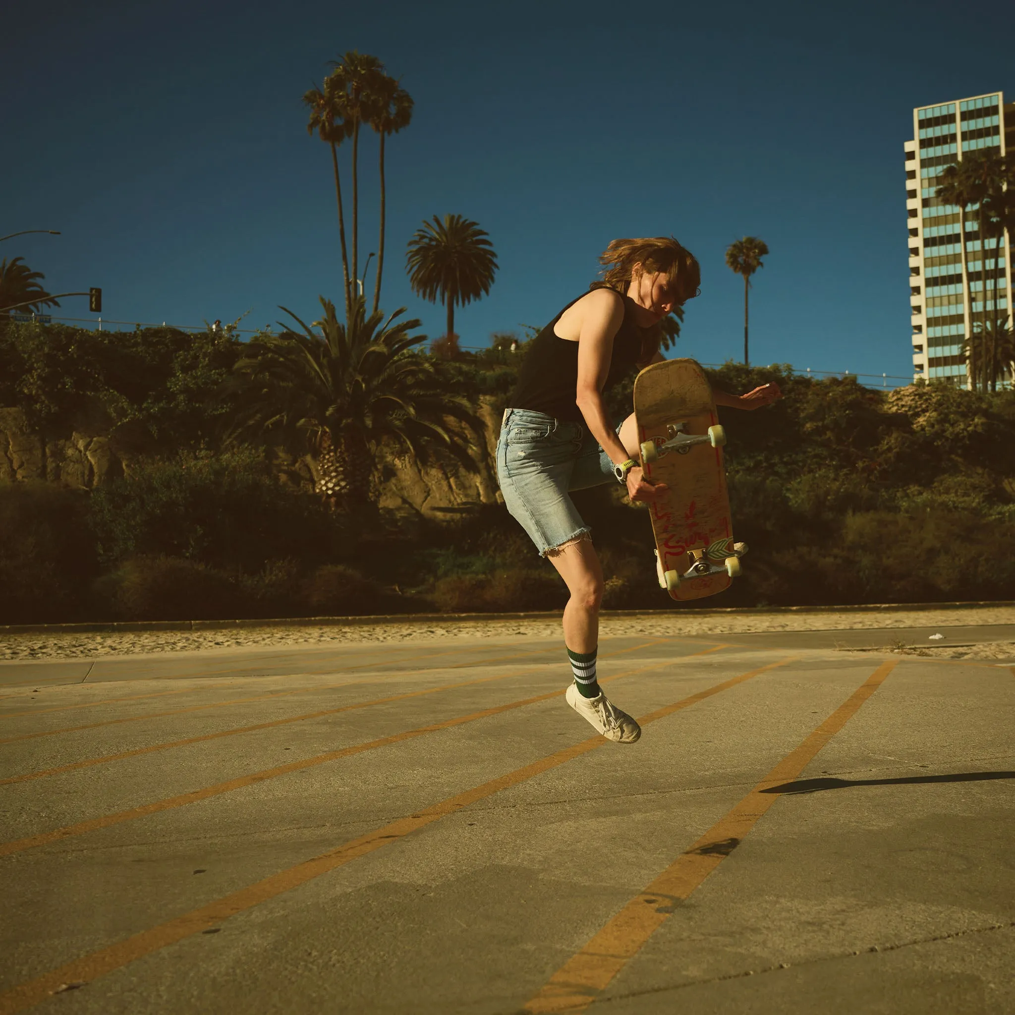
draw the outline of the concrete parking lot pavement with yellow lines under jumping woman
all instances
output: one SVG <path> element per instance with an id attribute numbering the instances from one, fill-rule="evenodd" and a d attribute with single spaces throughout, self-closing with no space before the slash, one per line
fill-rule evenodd
<path id="1" fill-rule="evenodd" d="M 933 630 L 0 664 L 6 1012 L 1015 1011 L 1015 677 Z M 949 628 L 950 644 L 1015 628 Z"/>

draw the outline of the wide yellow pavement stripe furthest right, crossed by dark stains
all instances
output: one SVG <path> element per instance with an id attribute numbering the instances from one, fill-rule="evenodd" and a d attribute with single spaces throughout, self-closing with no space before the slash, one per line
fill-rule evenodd
<path id="1" fill-rule="evenodd" d="M 525 1006 L 530 1015 L 584 1012 L 691 892 L 743 841 L 779 799 L 766 790 L 796 779 L 857 714 L 897 665 L 882 663 L 820 726 L 768 772 L 731 811 L 628 902 Z"/>

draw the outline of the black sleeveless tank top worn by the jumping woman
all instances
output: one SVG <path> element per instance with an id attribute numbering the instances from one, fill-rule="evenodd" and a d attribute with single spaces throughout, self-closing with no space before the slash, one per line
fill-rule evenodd
<path id="1" fill-rule="evenodd" d="M 582 296 L 588 294 L 583 292 Z M 641 358 L 642 333 L 634 323 L 634 308 L 637 304 L 630 296 L 620 292 L 617 295 L 624 301 L 624 319 L 613 336 L 613 354 L 604 391 L 626 377 Z M 532 348 L 527 351 L 519 370 L 515 390 L 507 396 L 509 408 L 544 412 L 562 422 L 582 422 L 582 410 L 574 400 L 578 393 L 578 342 L 553 333 L 553 327 L 564 311 L 573 307 L 582 296 L 572 299 L 533 339 Z"/>

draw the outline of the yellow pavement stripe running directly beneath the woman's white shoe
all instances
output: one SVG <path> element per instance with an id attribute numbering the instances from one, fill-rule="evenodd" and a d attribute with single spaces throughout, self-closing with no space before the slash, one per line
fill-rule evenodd
<path id="1" fill-rule="evenodd" d="M 707 651 L 715 652 L 719 650 L 717 648 Z M 695 655 L 704 655 L 704 653 L 695 653 Z M 687 659 L 689 657 L 684 656 L 681 658 Z M 766 666 L 750 670 L 740 676 L 724 680 L 722 683 L 716 684 L 706 690 L 698 691 L 696 694 L 691 694 L 689 697 L 682 698 L 663 708 L 659 708 L 644 719 L 638 720 L 638 722 L 645 726 L 658 719 L 673 715 L 714 694 L 719 694 L 730 687 L 735 687 L 745 680 L 750 680 L 761 673 L 785 666 L 798 658 L 797 656 L 790 656 L 779 662 L 769 663 Z M 672 663 L 672 660 L 668 660 L 665 663 L 641 667 L 640 669 L 631 670 L 626 673 L 618 673 L 615 676 L 600 681 L 600 683 L 619 680 L 621 677 L 631 676 L 635 673 L 658 670 Z M 562 691 L 554 691 L 551 694 L 542 695 L 540 698 L 533 700 L 543 700 L 561 694 Z M 523 702 L 519 702 L 519 704 Z M 513 705 L 501 705 L 499 706 L 499 710 L 504 712 L 511 707 Z M 465 721 L 465 719 L 462 721 Z M 292 891 L 292 889 L 298 888 L 308 881 L 313 881 L 315 878 L 328 874 L 359 857 L 366 856 L 376 850 L 380 850 L 382 847 L 405 838 L 406 835 L 425 828 L 427 825 L 447 817 L 449 814 L 457 814 L 471 804 L 485 800 L 487 797 L 491 797 L 501 790 L 507 790 L 514 786 L 526 783 L 543 772 L 565 764 L 567 761 L 581 757 L 590 751 L 597 750 L 608 743 L 610 741 L 598 735 L 590 737 L 588 740 L 580 741 L 570 747 L 565 747 L 562 750 L 555 751 L 553 754 L 540 758 L 532 764 L 516 768 L 505 775 L 500 775 L 497 779 L 490 780 L 488 783 L 473 787 L 464 793 L 456 794 L 454 797 L 449 797 L 437 804 L 432 804 L 408 817 L 392 821 L 381 828 L 367 832 L 365 835 L 360 835 L 358 838 L 344 842 L 334 850 L 329 850 L 327 853 L 303 861 L 294 867 L 279 871 L 277 874 L 273 874 L 255 884 L 248 885 L 246 888 L 241 888 L 239 891 L 223 898 L 215 899 L 213 902 L 209 902 L 200 908 L 192 909 L 190 912 L 185 912 L 150 930 L 141 931 L 139 934 L 135 934 L 124 941 L 119 941 L 107 948 L 101 948 L 88 955 L 82 955 L 80 958 L 73 959 L 50 972 L 43 973 L 43 975 L 35 979 L 19 984 L 4 994 L 0 994 L 0 1015 L 14 1015 L 16 1012 L 24 1011 L 26 1008 L 31 1008 L 33 1005 L 46 1001 L 51 995 L 67 984 L 91 983 L 106 973 L 113 972 L 161 948 L 176 944 L 178 941 L 182 941 L 194 934 L 199 934 L 201 931 L 217 927 L 230 917 L 244 912 L 261 902 L 267 902 L 285 892 Z"/>

